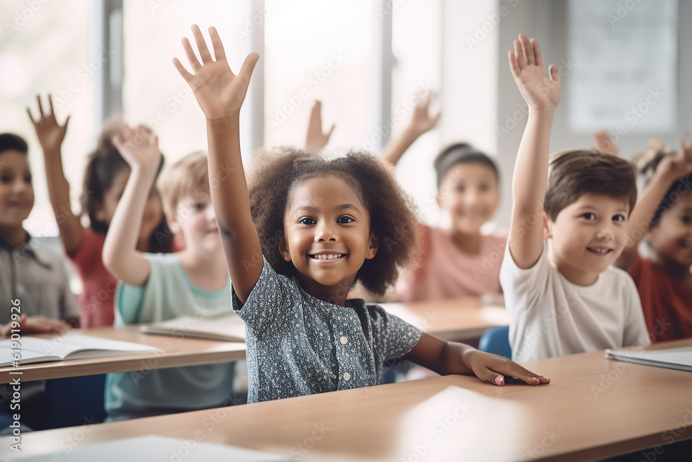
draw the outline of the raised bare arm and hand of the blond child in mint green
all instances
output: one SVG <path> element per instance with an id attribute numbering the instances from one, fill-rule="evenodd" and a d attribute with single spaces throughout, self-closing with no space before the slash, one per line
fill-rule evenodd
<path id="1" fill-rule="evenodd" d="M 134 130 L 125 125 L 122 134 L 113 138 L 113 145 L 129 163 L 131 172 L 108 226 L 103 264 L 124 283 L 145 285 L 151 266 L 136 249 L 147 197 L 161 163 L 158 138 L 142 125 Z"/>

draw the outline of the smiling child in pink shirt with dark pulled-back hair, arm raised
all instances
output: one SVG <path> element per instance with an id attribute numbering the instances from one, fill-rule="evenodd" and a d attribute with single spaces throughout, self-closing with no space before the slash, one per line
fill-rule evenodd
<path id="1" fill-rule="evenodd" d="M 383 158 L 393 165 L 403 152 L 439 120 L 429 115 L 432 98 L 417 105 L 410 125 Z M 402 277 L 403 301 L 439 300 L 501 294 L 500 267 L 507 243 L 505 233 L 486 234 L 481 226 L 500 204 L 499 172 L 495 162 L 466 143 L 450 145 L 435 159 L 437 205 L 450 226 L 421 224 L 418 267 Z"/>

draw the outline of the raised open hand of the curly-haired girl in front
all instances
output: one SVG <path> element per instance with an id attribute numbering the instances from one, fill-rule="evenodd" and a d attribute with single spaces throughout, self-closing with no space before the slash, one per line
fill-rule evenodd
<path id="1" fill-rule="evenodd" d="M 192 26 L 192 35 L 194 35 L 194 41 L 197 43 L 202 63 L 200 64 L 197 56 L 194 55 L 190 41 L 183 38 L 185 55 L 188 56 L 194 74 L 189 73 L 178 58 L 173 58 L 173 64 L 185 82 L 190 85 L 194 97 L 197 98 L 197 103 L 199 103 L 199 107 L 208 121 L 237 116 L 245 100 L 245 94 L 248 91 L 248 85 L 250 85 L 250 77 L 260 55 L 250 53 L 245 58 L 238 75 L 235 75 L 226 62 L 224 44 L 221 43 L 216 28 L 209 28 L 215 60 L 212 60 L 212 55 L 197 24 Z"/>

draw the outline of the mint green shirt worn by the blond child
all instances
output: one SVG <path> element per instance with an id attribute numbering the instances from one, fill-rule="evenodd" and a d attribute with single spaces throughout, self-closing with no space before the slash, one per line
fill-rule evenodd
<path id="1" fill-rule="evenodd" d="M 151 265 L 147 284 L 118 285 L 116 326 L 180 316 L 212 317 L 231 311 L 230 279 L 221 290 L 202 290 L 190 282 L 176 254 L 144 257 Z M 108 374 L 109 420 L 228 405 L 233 393 L 234 366 L 234 362 L 226 362 Z"/>

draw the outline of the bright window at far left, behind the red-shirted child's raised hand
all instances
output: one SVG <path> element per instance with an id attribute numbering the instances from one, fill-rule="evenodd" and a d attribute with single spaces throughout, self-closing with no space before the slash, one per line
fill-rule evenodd
<path id="1" fill-rule="evenodd" d="M 94 82 L 102 62 L 90 59 L 91 1 L 60 2 L 7 0 L 0 3 L 4 18 L 0 34 L 1 132 L 14 132 L 29 145 L 35 204 L 24 222 L 34 236 L 55 236 L 57 226 L 48 199 L 43 151 L 26 114 L 30 106 L 38 115 L 36 95 L 53 94 L 59 123 L 70 115 L 62 154 L 65 175 L 71 184 L 73 207 L 82 190 L 86 154 L 93 143 Z M 107 57 L 105 58 L 107 59 Z"/>

